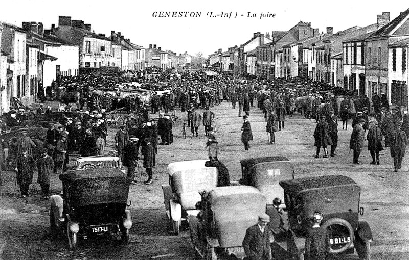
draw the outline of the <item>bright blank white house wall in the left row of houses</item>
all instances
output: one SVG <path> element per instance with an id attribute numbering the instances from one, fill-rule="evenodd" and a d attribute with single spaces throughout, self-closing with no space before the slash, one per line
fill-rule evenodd
<path id="1" fill-rule="evenodd" d="M 43 86 L 51 86 L 51 83 L 56 78 L 55 67 L 60 65 L 62 75 L 78 75 L 79 58 L 78 46 L 44 46 L 44 52 L 48 55 L 56 57 L 56 61 L 46 60 L 43 67 Z"/>

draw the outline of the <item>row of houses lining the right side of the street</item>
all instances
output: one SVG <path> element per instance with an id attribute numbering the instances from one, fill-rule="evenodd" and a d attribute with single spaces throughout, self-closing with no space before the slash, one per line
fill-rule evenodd
<path id="1" fill-rule="evenodd" d="M 385 93 L 392 105 L 407 108 L 408 47 L 409 9 L 392 21 L 383 12 L 374 24 L 337 33 L 303 21 L 287 32 L 257 32 L 239 47 L 219 49 L 209 62 L 237 75 L 313 79 L 369 98 Z"/>

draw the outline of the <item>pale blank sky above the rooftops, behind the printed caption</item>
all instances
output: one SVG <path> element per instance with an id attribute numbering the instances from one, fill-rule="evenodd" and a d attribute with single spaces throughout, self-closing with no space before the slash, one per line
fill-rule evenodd
<path id="1" fill-rule="evenodd" d="M 95 33 L 110 35 L 121 32 L 132 43 L 149 47 L 156 44 L 162 50 L 177 54 L 187 51 L 195 55 L 199 51 L 205 57 L 218 49 L 240 46 L 253 37 L 253 33 L 288 31 L 300 21 L 311 22 L 312 28 L 326 32 L 333 27 L 334 33 L 353 26 L 365 27 L 376 23 L 377 14 L 390 12 L 391 20 L 409 8 L 404 2 L 389 1 L 231 1 L 231 0 L 14 0 L 2 1 L 0 20 L 21 27 L 23 21 L 36 21 L 50 29 L 58 26 L 58 16 L 71 16 L 92 25 Z M 9 11 L 4 11 L 9 10 Z M 154 12 L 157 16 L 154 17 Z M 159 17 L 158 12 L 181 13 L 183 17 Z M 190 17 L 190 13 L 200 17 Z M 221 17 L 226 13 L 230 17 Z M 216 16 L 219 14 L 219 16 Z M 249 15 L 250 14 L 250 15 Z M 248 17 L 253 16 L 255 17 Z M 261 17 L 267 14 L 267 17 Z M 273 17 L 273 14 L 274 17 Z M 237 15 L 237 16 L 236 16 Z M 212 17 L 210 17 L 212 16 Z M 236 16 L 236 17 L 235 17 Z M 268 17 L 270 16 L 270 17 Z"/>

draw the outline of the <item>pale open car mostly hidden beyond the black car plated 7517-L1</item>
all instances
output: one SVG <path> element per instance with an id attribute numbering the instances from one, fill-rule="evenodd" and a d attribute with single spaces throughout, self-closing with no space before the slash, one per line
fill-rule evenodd
<path id="1" fill-rule="evenodd" d="M 98 155 L 80 157 L 76 162 L 76 170 L 90 170 L 100 168 L 120 168 L 119 157 L 112 155 Z"/>

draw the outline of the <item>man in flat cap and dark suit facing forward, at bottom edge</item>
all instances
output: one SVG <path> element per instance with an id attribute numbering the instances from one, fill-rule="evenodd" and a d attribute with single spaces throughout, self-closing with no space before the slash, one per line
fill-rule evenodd
<path id="1" fill-rule="evenodd" d="M 270 216 L 261 213 L 258 218 L 256 225 L 247 228 L 242 245 L 249 260 L 270 260 L 270 234 L 267 226 Z"/>

